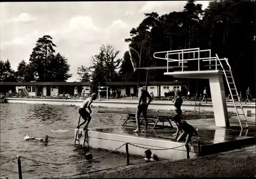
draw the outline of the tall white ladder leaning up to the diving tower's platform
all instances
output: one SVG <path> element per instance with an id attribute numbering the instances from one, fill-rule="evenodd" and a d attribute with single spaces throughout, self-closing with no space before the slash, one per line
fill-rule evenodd
<path id="1" fill-rule="evenodd" d="M 228 85 L 228 89 L 229 89 L 229 93 L 230 93 L 230 96 L 232 98 L 232 102 L 233 102 L 234 108 L 236 109 L 241 129 L 248 128 L 248 123 L 247 123 L 247 120 L 246 120 L 244 109 L 243 109 L 242 103 L 241 103 L 240 98 L 239 98 L 239 94 L 238 94 L 238 90 L 237 90 L 236 84 L 234 83 L 234 78 L 233 78 L 233 75 L 232 75 L 231 67 L 230 67 L 227 59 L 224 58 L 226 63 L 227 63 L 227 65 L 228 65 L 228 68 L 229 68 L 229 70 L 225 70 L 224 67 L 223 67 L 223 64 L 222 64 L 222 62 L 221 62 L 221 60 L 220 60 L 220 58 L 218 57 L 217 54 L 216 54 L 216 57 L 217 57 L 220 65 L 221 65 L 221 68 L 222 68 L 222 70 L 224 72 L 224 75 L 225 75 L 225 78 L 226 78 L 226 81 L 227 81 L 227 85 Z M 229 79 L 232 79 L 232 81 L 230 81 Z M 233 85 L 233 88 L 231 88 L 230 85 Z M 236 91 L 236 95 L 233 95 L 232 91 Z M 236 96 L 238 98 L 239 104 L 234 102 L 234 96 Z M 238 109 L 241 109 L 240 113 L 239 113 Z M 244 120 L 241 120 L 240 116 L 243 116 Z M 243 127 L 241 122 L 245 122 L 246 127 Z"/>

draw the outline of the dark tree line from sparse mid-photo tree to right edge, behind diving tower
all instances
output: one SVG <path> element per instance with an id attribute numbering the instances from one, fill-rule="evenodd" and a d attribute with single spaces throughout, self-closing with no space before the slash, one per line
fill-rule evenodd
<path id="1" fill-rule="evenodd" d="M 145 13 L 145 18 L 138 27 L 131 29 L 130 37 L 124 41 L 140 54 L 140 58 L 136 54 L 132 56 L 137 66 L 141 67 L 166 66 L 165 60 L 153 57 L 155 52 L 191 48 L 211 49 L 211 56 L 217 53 L 220 58 L 228 58 L 239 91 L 246 91 L 248 86 L 254 91 L 254 8 L 255 2 L 252 0 L 211 1 L 205 10 L 201 4 L 187 1 L 180 12 L 173 11 L 163 15 L 156 12 Z M 114 57 L 113 51 L 108 52 Z M 105 59 L 102 54 L 105 54 Z M 147 81 L 147 77 L 148 81 L 174 80 L 173 77 L 164 75 L 166 70 L 140 70 L 134 73 L 127 51 L 121 60 L 112 60 L 116 66 L 120 63 L 113 73 L 113 68 L 106 62 L 106 59 L 111 61 L 110 55 L 107 54 L 106 49 L 101 48 L 100 53 L 92 58 L 92 66 L 79 68 L 80 80 L 88 81 L 90 74 L 94 84 L 110 80 Z M 188 62 L 187 65 L 188 70 L 197 68 L 194 61 Z M 194 93 L 209 85 L 207 80 L 182 80 L 190 84 L 189 89 Z M 227 90 L 227 85 L 225 88 Z"/>

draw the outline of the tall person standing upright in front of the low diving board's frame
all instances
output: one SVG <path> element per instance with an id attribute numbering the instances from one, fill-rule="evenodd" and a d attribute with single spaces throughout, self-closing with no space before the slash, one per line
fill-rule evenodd
<path id="1" fill-rule="evenodd" d="M 145 120 L 145 128 L 141 132 L 146 132 L 147 128 L 147 107 L 150 105 L 152 101 L 151 95 L 144 89 L 142 86 L 139 87 L 139 104 L 136 110 L 136 124 L 137 129 L 134 132 L 140 132 L 140 114 L 142 113 L 143 118 Z M 146 98 L 148 98 L 148 102 L 146 102 Z"/>

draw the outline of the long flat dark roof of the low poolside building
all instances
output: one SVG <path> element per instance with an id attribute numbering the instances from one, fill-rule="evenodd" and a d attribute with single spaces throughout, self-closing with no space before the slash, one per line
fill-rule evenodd
<path id="1" fill-rule="evenodd" d="M 104 86 L 136 86 L 138 82 L 105 82 Z M 146 82 L 140 82 L 146 85 Z M 184 82 L 183 82 L 184 84 Z M 0 85 L 16 85 L 16 86 L 89 86 L 91 82 L 3 82 Z M 151 81 L 148 85 L 181 85 L 181 81 Z"/>

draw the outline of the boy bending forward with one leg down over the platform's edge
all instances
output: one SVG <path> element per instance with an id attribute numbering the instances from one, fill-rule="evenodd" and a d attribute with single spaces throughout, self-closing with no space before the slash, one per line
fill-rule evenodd
<path id="1" fill-rule="evenodd" d="M 186 138 L 185 147 L 186 147 L 186 150 L 187 150 L 187 159 L 189 159 L 190 158 L 190 156 L 189 156 L 189 147 L 188 147 L 187 143 L 189 143 L 191 141 L 191 137 L 193 136 L 193 133 L 195 133 L 195 135 L 198 135 L 198 133 L 197 133 L 197 131 L 195 130 L 195 128 L 193 126 L 188 124 L 181 117 L 175 116 L 173 119 L 174 119 L 174 122 L 177 125 L 177 132 L 176 132 L 177 134 L 176 134 L 175 140 L 177 140 L 177 142 L 180 142 L 181 140 Z M 180 132 L 181 129 L 183 130 L 183 132 L 178 137 L 178 133 Z"/>

